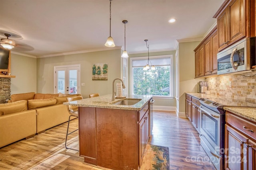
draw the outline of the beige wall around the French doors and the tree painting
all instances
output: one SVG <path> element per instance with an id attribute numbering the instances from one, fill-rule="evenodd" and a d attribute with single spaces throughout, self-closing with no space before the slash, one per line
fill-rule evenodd
<path id="1" fill-rule="evenodd" d="M 37 59 L 38 93 L 54 93 L 54 66 L 81 64 L 81 94 L 88 98 L 91 93 L 112 94 L 114 78 L 121 76 L 121 50 L 107 50 Z M 92 80 L 92 65 L 108 63 L 108 80 Z M 118 82 L 118 81 L 116 81 Z"/>

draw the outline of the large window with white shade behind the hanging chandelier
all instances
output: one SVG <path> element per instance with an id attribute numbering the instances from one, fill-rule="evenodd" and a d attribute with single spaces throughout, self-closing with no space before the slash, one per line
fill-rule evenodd
<path id="1" fill-rule="evenodd" d="M 156 70 L 143 70 L 148 57 L 134 57 L 130 60 L 132 94 L 154 95 L 158 98 L 173 97 L 172 55 L 150 57 L 150 62 Z"/>

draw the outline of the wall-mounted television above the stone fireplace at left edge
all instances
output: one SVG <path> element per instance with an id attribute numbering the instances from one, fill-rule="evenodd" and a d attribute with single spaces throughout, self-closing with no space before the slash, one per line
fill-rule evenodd
<path id="1" fill-rule="evenodd" d="M 10 50 L 0 48 L 0 74 L 2 72 L 9 72 L 10 61 Z"/>

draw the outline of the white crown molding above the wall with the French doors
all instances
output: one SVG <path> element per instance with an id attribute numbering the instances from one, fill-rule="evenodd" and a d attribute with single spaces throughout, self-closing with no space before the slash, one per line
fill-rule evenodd
<path id="1" fill-rule="evenodd" d="M 66 53 L 56 53 L 56 54 L 49 54 L 49 55 L 41 55 L 36 58 L 45 58 L 45 57 L 55 57 L 55 56 L 61 56 L 61 55 L 72 55 L 72 54 L 80 54 L 80 53 L 90 53 L 90 52 L 96 52 L 96 51 L 107 51 L 107 50 L 115 50 L 115 49 L 121 49 L 122 46 L 116 46 L 111 48 L 102 48 L 102 49 L 90 49 L 90 50 L 81 50 L 81 51 L 71 51 Z"/>

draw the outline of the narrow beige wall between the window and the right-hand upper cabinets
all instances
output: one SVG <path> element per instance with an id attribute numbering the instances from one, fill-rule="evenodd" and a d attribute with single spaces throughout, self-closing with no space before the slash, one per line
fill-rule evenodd
<path id="1" fill-rule="evenodd" d="M 202 78 L 195 79 L 195 53 L 194 49 L 200 41 L 179 43 L 179 102 L 178 116 L 185 116 L 185 92 L 198 92 L 198 82 Z"/>

